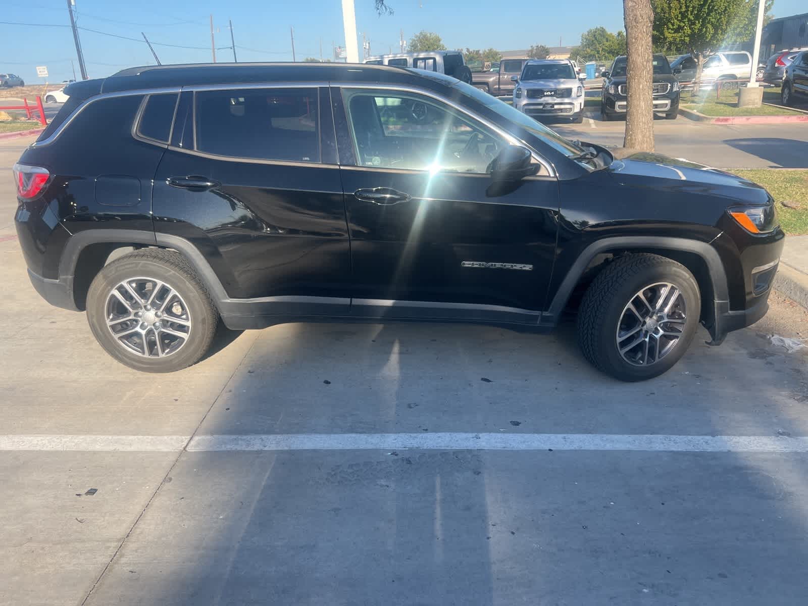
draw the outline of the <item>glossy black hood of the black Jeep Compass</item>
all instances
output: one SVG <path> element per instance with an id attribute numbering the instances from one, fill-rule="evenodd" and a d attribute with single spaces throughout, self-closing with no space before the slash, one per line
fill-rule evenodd
<path id="1" fill-rule="evenodd" d="M 671 187 L 680 187 L 701 193 L 713 193 L 718 196 L 730 196 L 749 204 L 769 204 L 771 196 L 763 187 L 752 183 L 738 175 L 725 170 L 711 168 L 684 158 L 668 158 L 662 154 L 638 152 L 626 155 L 621 159 L 621 150 L 613 150 L 615 161 L 608 171 L 618 180 L 625 183 L 642 183 L 658 179 L 671 182 Z"/>

